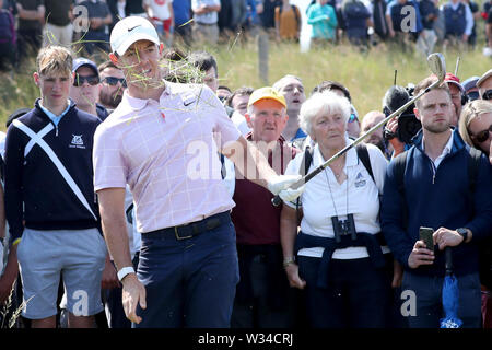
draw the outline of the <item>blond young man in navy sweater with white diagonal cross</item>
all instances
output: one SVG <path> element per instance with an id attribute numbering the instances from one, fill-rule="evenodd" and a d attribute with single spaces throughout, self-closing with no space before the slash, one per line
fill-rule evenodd
<path id="1" fill-rule="evenodd" d="M 12 122 L 5 141 L 5 214 L 26 302 L 23 316 L 32 327 L 56 326 L 61 275 L 69 327 L 92 327 L 93 315 L 103 310 L 107 253 L 92 170 L 93 135 L 101 121 L 68 98 L 73 84 L 68 49 L 43 48 L 36 62 L 40 98 Z"/>

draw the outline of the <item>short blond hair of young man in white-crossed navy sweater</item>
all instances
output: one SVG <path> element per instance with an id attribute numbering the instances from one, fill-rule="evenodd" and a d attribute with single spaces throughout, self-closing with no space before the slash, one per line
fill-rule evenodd
<path id="1" fill-rule="evenodd" d="M 36 58 L 36 69 L 40 75 L 54 72 L 70 75 L 72 73 L 72 52 L 62 46 L 47 46 L 39 50 Z"/>

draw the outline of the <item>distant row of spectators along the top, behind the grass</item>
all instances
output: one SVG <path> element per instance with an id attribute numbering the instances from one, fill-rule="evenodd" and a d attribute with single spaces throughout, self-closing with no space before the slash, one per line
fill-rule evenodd
<path id="1" fill-rule="evenodd" d="M 301 10 L 289 0 L 2 0 L 0 9 L 3 69 L 48 44 L 72 45 L 85 56 L 107 51 L 113 26 L 128 15 L 150 19 L 167 47 L 175 40 L 213 46 L 238 33 L 295 43 L 305 32 L 313 46 L 347 39 L 366 50 L 387 42 L 424 55 L 436 45 L 476 48 L 483 36 L 483 54 L 492 52 L 490 1 L 480 9 L 472 0 L 313 0 Z"/>

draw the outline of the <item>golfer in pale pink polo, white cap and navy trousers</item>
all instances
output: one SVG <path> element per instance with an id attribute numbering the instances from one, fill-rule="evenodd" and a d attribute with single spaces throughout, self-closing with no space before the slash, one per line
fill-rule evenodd
<path id="1" fill-rule="evenodd" d="M 133 327 L 229 327 L 238 281 L 234 202 L 216 152 L 285 200 L 301 194 L 288 188 L 298 176 L 277 175 L 248 148 L 210 89 L 163 80 L 163 46 L 149 21 L 119 21 L 110 45 L 128 89 L 96 130 L 94 187 L 125 313 Z M 245 158 L 253 172 L 243 168 Z M 142 233 L 137 273 L 126 233 L 126 184 Z"/>

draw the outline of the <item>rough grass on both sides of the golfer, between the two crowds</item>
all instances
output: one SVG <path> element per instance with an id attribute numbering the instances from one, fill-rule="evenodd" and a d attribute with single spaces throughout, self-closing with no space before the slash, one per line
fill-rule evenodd
<path id="1" fill-rule="evenodd" d="M 440 50 L 440 47 L 436 47 Z M 360 116 L 368 110 L 382 109 L 382 98 L 393 85 L 395 70 L 398 70 L 397 84 L 418 83 L 430 74 L 425 58 L 417 52 L 402 52 L 379 45 L 368 52 L 361 54 L 350 45 L 338 45 L 323 49 L 301 52 L 297 44 L 270 42 L 268 77 L 259 74 L 258 46 L 255 42 L 232 38 L 210 50 L 219 63 L 221 85 L 232 90 L 242 85 L 261 88 L 273 84 L 284 74 L 300 77 L 308 96 L 312 89 L 323 80 L 336 80 L 351 92 L 353 104 Z M 481 45 L 476 50 L 458 54 L 445 52 L 448 72 L 455 71 L 457 57 L 460 57 L 458 77 L 465 80 L 481 75 L 492 67 L 492 59 L 482 56 Z M 16 108 L 31 107 L 39 95 L 33 82 L 34 60 L 26 62 L 19 72 L 0 73 L 0 129 L 5 129 L 7 117 Z"/>

